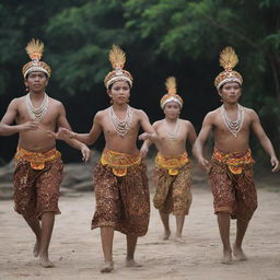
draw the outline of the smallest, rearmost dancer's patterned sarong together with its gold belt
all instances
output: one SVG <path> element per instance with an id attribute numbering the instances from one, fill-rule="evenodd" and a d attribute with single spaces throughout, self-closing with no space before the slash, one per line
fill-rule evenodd
<path id="1" fill-rule="evenodd" d="M 191 174 L 187 153 L 179 156 L 158 154 L 154 168 L 153 205 L 164 213 L 186 215 L 191 205 Z"/>

